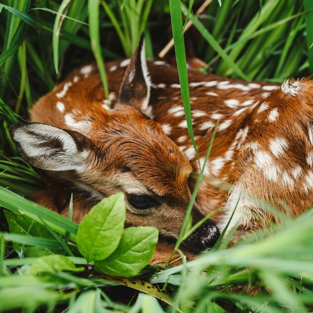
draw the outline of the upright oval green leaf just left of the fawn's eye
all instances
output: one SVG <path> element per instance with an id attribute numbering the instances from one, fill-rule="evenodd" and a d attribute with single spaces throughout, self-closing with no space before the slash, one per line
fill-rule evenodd
<path id="1" fill-rule="evenodd" d="M 78 227 L 77 248 L 87 261 L 103 260 L 118 246 L 125 222 L 124 194 L 102 200 Z"/>

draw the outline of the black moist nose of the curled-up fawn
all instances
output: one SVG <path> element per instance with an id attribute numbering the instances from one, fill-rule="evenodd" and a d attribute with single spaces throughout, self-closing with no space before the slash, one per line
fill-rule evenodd
<path id="1" fill-rule="evenodd" d="M 201 252 L 213 248 L 220 233 L 215 224 L 207 220 L 198 227 L 185 241 L 183 245 L 189 250 Z"/>

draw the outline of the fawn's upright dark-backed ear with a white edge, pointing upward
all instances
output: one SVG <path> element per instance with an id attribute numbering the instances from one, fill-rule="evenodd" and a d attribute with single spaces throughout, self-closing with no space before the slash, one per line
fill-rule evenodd
<path id="1" fill-rule="evenodd" d="M 127 66 L 118 100 L 120 104 L 132 105 L 141 111 L 148 108 L 151 81 L 145 55 L 145 40 L 141 36 L 137 50 Z"/>

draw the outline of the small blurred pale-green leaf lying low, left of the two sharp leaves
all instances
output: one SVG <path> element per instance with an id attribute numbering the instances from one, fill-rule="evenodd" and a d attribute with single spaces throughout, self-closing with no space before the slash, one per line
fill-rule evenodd
<path id="1" fill-rule="evenodd" d="M 68 258 L 61 255 L 51 255 L 38 258 L 29 270 L 30 274 L 55 273 L 60 271 L 81 272 L 84 267 L 76 267 Z"/>

